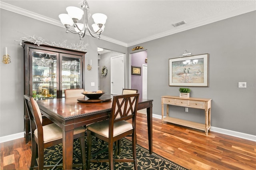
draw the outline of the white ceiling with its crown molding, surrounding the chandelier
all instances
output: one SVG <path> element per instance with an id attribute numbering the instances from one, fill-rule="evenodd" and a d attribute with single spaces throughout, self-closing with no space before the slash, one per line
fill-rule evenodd
<path id="1" fill-rule="evenodd" d="M 1 8 L 62 26 L 58 15 L 67 13 L 67 6 L 82 3 L 1 0 Z M 88 4 L 91 14 L 108 16 L 101 38 L 126 47 L 256 10 L 256 0 L 88 0 Z M 186 24 L 172 26 L 183 20 Z"/>

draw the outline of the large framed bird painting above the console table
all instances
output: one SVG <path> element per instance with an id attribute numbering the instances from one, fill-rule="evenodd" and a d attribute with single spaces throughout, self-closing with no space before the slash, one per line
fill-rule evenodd
<path id="1" fill-rule="evenodd" d="M 209 54 L 169 59 L 169 86 L 208 87 Z"/>

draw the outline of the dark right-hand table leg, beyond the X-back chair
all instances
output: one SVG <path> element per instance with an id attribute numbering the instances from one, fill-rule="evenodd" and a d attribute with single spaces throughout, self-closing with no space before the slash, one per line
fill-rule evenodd
<path id="1" fill-rule="evenodd" d="M 149 154 L 152 154 L 152 102 L 150 107 L 147 108 L 147 120 L 148 120 L 148 150 Z"/>

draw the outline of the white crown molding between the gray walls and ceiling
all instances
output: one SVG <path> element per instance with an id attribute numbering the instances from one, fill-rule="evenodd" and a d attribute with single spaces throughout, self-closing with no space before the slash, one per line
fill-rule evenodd
<path id="1" fill-rule="evenodd" d="M 53 24 L 53 25 L 65 28 L 63 26 L 63 24 L 58 20 L 54 20 L 52 18 L 37 14 L 35 12 L 24 10 L 22 8 L 7 4 L 5 2 L 0 2 L 0 3 L 1 3 L 0 8 L 2 8 L 4 10 L 15 12 L 15 13 L 20 14 L 20 15 L 28 16 L 28 17 L 34 18 L 36 20 L 40 20 L 40 21 L 43 21 L 43 22 L 47 22 L 49 24 Z M 133 45 L 148 42 L 148 41 L 151 41 L 151 40 L 156 40 L 158 38 L 162 38 L 162 37 L 165 37 L 165 36 L 170 36 L 172 34 L 183 32 L 183 31 L 186 31 L 186 30 L 190 30 L 192 28 L 204 26 L 206 24 L 210 24 L 210 23 L 213 23 L 213 22 L 217 22 L 217 21 L 220 21 L 220 20 L 224 20 L 224 19 L 227 19 L 227 18 L 231 18 L 231 17 L 234 17 L 234 16 L 245 14 L 247 12 L 252 12 L 252 11 L 255 11 L 255 10 L 256 10 L 256 6 L 246 6 L 244 8 L 240 8 L 238 10 L 234 10 L 234 11 L 228 12 L 226 14 L 215 16 L 215 17 L 209 18 L 207 20 L 202 20 L 202 21 L 196 22 L 194 24 L 189 24 L 188 23 L 186 25 L 181 26 L 180 28 L 176 28 L 174 30 L 162 32 L 162 33 L 159 33 L 159 34 L 156 34 L 156 35 L 153 35 L 153 36 L 150 36 L 150 37 L 138 40 L 138 41 L 134 41 L 134 42 L 131 42 L 131 43 L 124 43 L 124 42 L 121 42 L 121 41 L 118 41 L 118 40 L 114 40 L 112 38 L 108 38 L 106 36 L 101 36 L 101 40 L 105 40 L 105 41 L 112 42 L 112 43 L 115 43 L 115 44 L 118 44 L 118 45 L 122 45 L 124 47 L 130 47 L 130 46 L 133 46 Z M 86 35 L 90 35 L 90 34 L 86 33 Z"/>

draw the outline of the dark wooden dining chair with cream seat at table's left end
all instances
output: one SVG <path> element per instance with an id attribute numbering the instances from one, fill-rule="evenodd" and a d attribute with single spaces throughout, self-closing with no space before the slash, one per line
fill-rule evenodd
<path id="1" fill-rule="evenodd" d="M 55 123 L 42 126 L 42 114 L 38 107 L 38 104 L 29 95 L 24 95 L 24 100 L 26 103 L 26 109 L 28 111 L 30 119 L 30 128 L 31 128 L 31 145 L 32 145 L 32 157 L 30 163 L 30 170 L 38 168 L 42 170 L 44 168 L 62 168 L 60 161 L 57 164 L 52 166 L 44 166 L 44 148 L 54 146 L 56 144 L 62 143 L 62 129 L 58 127 Z M 79 138 L 80 140 L 80 149 L 82 155 L 82 167 L 86 168 L 86 157 L 85 157 L 85 128 L 78 127 L 74 129 L 74 139 Z M 74 152 L 74 154 L 76 154 Z M 38 156 L 38 166 L 35 166 L 36 156 Z M 78 158 L 78 156 L 76 154 Z M 81 166 L 80 164 L 74 164 L 74 167 Z"/>

